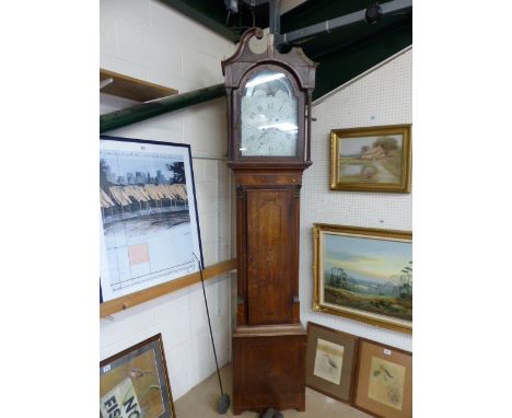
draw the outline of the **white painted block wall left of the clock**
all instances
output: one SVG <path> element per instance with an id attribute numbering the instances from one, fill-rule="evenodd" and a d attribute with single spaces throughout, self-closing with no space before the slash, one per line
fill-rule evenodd
<path id="1" fill-rule="evenodd" d="M 101 1 L 101 67 L 178 89 L 181 93 L 223 82 L 221 60 L 235 46 L 154 0 Z M 101 94 L 101 113 L 135 102 Z M 162 115 L 108 135 L 190 143 L 206 266 L 231 258 L 225 100 Z M 220 193 L 219 193 L 220 191 Z M 219 228 L 219 222 L 222 228 Z M 220 365 L 230 359 L 229 280 L 207 282 Z M 200 285 L 101 320 L 100 355 L 105 359 L 162 333 L 174 399 L 214 371 Z"/>

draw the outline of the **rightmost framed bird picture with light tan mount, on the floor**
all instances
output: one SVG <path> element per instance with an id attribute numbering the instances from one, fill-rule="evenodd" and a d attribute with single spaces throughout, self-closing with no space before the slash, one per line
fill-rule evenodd
<path id="1" fill-rule="evenodd" d="M 412 353 L 361 339 L 353 405 L 382 418 L 411 418 Z"/>

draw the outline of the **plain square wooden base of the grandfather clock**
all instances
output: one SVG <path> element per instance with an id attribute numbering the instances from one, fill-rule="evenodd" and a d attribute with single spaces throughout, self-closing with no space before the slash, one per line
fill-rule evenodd
<path id="1" fill-rule="evenodd" d="M 305 410 L 306 333 L 301 325 L 238 326 L 233 333 L 233 414 Z"/>

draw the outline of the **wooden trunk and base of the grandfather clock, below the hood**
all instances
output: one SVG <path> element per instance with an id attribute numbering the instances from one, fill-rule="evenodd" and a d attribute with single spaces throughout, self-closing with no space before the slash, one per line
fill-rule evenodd
<path id="1" fill-rule="evenodd" d="M 303 166 L 237 169 L 233 413 L 305 405 L 299 228 Z"/>

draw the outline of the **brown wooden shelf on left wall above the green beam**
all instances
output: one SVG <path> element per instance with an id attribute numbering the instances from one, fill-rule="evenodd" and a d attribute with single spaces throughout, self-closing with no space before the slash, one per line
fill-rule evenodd
<path id="1" fill-rule="evenodd" d="M 164 88 L 163 85 L 150 83 L 149 81 L 133 79 L 132 77 L 104 70 L 102 68 L 100 69 L 100 81 L 110 78 L 114 79 L 114 81 L 103 88 L 101 90 L 102 93 L 138 102 L 148 102 L 178 93 L 176 89 Z"/>

